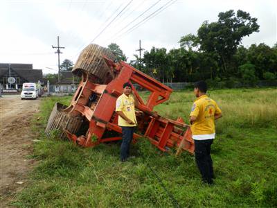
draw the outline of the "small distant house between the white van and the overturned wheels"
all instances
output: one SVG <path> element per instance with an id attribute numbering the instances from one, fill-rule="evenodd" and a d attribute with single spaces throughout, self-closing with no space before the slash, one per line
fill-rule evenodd
<path id="1" fill-rule="evenodd" d="M 60 82 L 55 84 L 56 92 L 75 92 L 76 85 L 79 85 L 80 78 L 74 76 L 71 71 L 60 72 Z"/>

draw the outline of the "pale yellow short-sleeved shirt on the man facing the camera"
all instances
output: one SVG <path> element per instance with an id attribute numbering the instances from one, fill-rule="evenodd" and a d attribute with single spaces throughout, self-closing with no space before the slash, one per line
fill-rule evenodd
<path id="1" fill-rule="evenodd" d="M 126 96 L 125 94 L 120 95 L 116 100 L 116 111 L 122 111 L 128 119 L 133 121 L 135 124 L 129 124 L 121 116 L 118 116 L 119 126 L 136 126 L 136 114 L 134 110 L 134 97 L 130 94 Z"/>

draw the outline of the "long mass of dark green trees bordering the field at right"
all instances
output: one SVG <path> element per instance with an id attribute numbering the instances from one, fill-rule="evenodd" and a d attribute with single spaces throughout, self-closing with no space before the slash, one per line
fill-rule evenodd
<path id="1" fill-rule="evenodd" d="M 211 86 L 219 88 L 255 85 L 265 79 L 265 72 L 277 73 L 276 46 L 253 44 L 247 49 L 240 45 L 243 37 L 258 30 L 257 19 L 247 12 L 220 12 L 217 21 L 204 21 L 197 35 L 182 36 L 179 49 L 153 47 L 132 65 L 139 68 L 143 62 L 141 70 L 162 83 L 211 80 Z"/>

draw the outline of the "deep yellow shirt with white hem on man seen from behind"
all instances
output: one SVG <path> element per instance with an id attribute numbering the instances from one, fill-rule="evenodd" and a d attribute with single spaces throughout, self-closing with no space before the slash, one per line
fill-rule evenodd
<path id="1" fill-rule="evenodd" d="M 202 95 L 195 103 L 190 112 L 190 116 L 195 116 L 196 120 L 191 125 L 193 139 L 205 140 L 215 138 L 215 114 L 221 114 L 220 107 L 206 95 Z"/>

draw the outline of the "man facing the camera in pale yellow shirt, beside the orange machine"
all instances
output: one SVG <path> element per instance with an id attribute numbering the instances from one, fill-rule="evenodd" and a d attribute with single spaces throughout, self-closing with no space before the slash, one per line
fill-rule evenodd
<path id="1" fill-rule="evenodd" d="M 129 146 L 133 139 L 136 122 L 135 99 L 132 95 L 132 85 L 123 85 L 123 94 L 116 100 L 118 125 L 122 128 L 122 143 L 120 146 L 120 161 L 125 162 L 129 157 Z"/>

